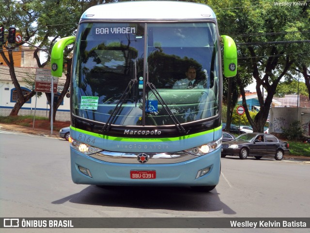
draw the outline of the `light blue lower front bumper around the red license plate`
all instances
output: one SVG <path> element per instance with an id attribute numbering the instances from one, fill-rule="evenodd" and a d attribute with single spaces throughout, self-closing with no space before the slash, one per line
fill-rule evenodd
<path id="1" fill-rule="evenodd" d="M 94 159 L 71 150 L 72 181 L 79 184 L 124 186 L 212 186 L 220 175 L 220 148 L 174 164 L 121 164 Z M 199 176 L 204 168 L 210 170 Z M 84 173 L 81 171 L 84 171 Z M 155 179 L 132 179 L 131 171 L 155 171 Z M 87 171 L 87 172 L 86 172 Z"/>

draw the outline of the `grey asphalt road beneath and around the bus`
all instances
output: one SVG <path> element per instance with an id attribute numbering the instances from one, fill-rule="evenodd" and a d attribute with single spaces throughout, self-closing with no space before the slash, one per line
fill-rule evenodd
<path id="1" fill-rule="evenodd" d="M 0 217 L 310 217 L 309 162 L 240 160 L 227 156 L 221 163 L 220 182 L 209 193 L 197 193 L 189 187 L 99 188 L 71 181 L 67 141 L 0 132 Z M 36 230 L 40 229 L 10 232 L 60 232 Z M 85 232 L 85 229 L 62 230 Z M 250 230 L 254 229 L 167 229 L 165 232 Z M 254 232 L 308 232 L 307 229 L 264 230 Z M 164 231 L 96 229 L 87 232 Z"/>

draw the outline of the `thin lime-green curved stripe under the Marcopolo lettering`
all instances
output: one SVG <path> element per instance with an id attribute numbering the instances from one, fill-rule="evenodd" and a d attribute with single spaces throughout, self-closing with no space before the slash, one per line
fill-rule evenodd
<path id="1" fill-rule="evenodd" d="M 74 128 L 72 126 L 70 126 L 70 129 L 79 132 L 79 133 L 85 133 L 94 137 L 100 137 L 103 139 L 107 139 L 107 140 L 112 140 L 112 141 L 126 141 L 126 142 L 141 142 L 141 141 L 152 141 L 152 142 L 165 142 L 165 141 L 178 141 L 178 140 L 184 140 L 184 139 L 189 139 L 189 138 L 193 138 L 193 137 L 198 137 L 198 136 L 202 136 L 204 134 L 207 133 L 213 133 L 213 130 L 208 130 L 208 131 L 204 131 L 201 133 L 194 133 L 194 134 L 190 134 L 190 135 L 184 135 L 184 136 L 179 136 L 179 137 L 160 137 L 160 138 L 130 138 L 130 137 L 114 137 L 114 136 L 108 136 L 108 135 L 103 135 L 103 134 L 99 134 L 99 133 L 92 133 L 89 131 L 85 131 L 85 130 L 80 130 L 78 128 Z M 214 129 L 214 132 L 222 130 L 222 127 L 219 126 L 217 128 Z"/>

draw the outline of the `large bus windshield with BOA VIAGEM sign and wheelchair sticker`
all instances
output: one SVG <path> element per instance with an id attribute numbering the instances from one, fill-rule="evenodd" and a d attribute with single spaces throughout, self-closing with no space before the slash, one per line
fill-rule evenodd
<path id="1" fill-rule="evenodd" d="M 173 125 L 166 108 L 181 124 L 219 114 L 215 23 L 85 22 L 74 53 L 76 116 L 107 123 L 113 113 L 114 125 L 152 126 Z"/>

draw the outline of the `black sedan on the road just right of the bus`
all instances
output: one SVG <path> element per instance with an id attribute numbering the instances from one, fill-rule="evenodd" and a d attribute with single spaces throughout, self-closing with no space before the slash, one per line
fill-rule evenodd
<path id="1" fill-rule="evenodd" d="M 262 140 L 259 140 L 262 137 Z M 264 133 L 244 133 L 232 141 L 223 142 L 221 157 L 226 155 L 237 155 L 240 159 L 254 156 L 260 159 L 263 156 L 274 156 L 276 160 L 281 160 L 283 155 L 289 153 L 289 144 L 281 141 L 272 134 Z"/>

